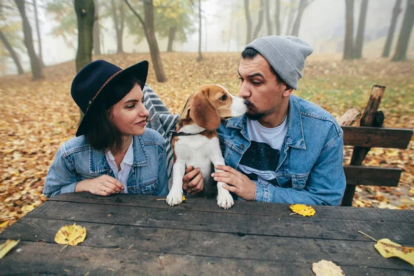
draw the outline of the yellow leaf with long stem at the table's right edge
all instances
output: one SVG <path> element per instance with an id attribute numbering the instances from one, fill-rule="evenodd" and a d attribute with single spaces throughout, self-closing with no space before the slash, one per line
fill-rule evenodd
<path id="1" fill-rule="evenodd" d="M 414 266 L 414 247 L 401 246 L 389 239 L 380 239 L 374 247 L 384 258 L 399 257 Z"/>

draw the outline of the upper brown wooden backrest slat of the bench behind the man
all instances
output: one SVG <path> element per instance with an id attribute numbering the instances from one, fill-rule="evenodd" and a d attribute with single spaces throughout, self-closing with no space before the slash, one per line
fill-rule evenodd
<path id="1" fill-rule="evenodd" d="M 345 146 L 368 148 L 402 148 L 410 143 L 413 130 L 408 128 L 373 128 L 368 126 L 342 126 Z"/>

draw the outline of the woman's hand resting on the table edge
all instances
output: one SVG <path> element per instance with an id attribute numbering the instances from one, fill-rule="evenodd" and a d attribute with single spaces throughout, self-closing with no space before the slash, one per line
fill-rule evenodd
<path id="1" fill-rule="evenodd" d="M 89 192 L 105 197 L 115 193 L 121 193 L 122 190 L 124 190 L 124 186 L 121 182 L 109 175 L 101 175 L 100 177 L 79 181 L 75 187 L 75 193 Z"/>

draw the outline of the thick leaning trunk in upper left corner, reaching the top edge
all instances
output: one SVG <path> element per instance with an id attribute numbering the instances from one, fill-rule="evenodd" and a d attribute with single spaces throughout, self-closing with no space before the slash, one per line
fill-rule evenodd
<path id="1" fill-rule="evenodd" d="M 36 55 L 36 52 L 34 52 L 32 28 L 30 28 L 28 17 L 26 17 L 25 1 L 24 0 L 14 0 L 14 1 L 17 5 L 17 8 L 19 8 L 21 19 L 23 21 L 24 45 L 28 49 L 33 79 L 43 79 L 43 72 L 41 70 L 41 64 L 40 64 L 39 58 Z"/>

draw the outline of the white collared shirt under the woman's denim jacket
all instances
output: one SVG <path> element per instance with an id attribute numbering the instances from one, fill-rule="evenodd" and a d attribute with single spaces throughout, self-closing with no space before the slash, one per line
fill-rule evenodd
<path id="1" fill-rule="evenodd" d="M 131 166 L 134 163 L 134 151 L 132 150 L 132 141 L 130 146 L 128 147 L 128 150 L 126 150 L 124 159 L 121 162 L 121 170 L 118 171 L 118 166 L 115 163 L 115 157 L 112 155 L 112 152 L 110 152 L 110 150 L 107 150 L 105 152 L 105 156 L 106 161 L 108 161 L 110 168 L 114 172 L 115 178 L 124 186 L 123 193 L 128 193 L 128 176 L 131 171 Z"/>

